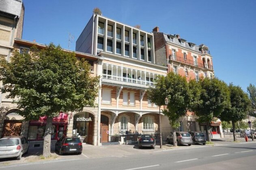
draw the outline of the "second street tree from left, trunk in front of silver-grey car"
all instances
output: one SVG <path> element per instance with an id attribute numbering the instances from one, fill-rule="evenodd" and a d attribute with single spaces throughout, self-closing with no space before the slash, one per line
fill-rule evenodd
<path id="1" fill-rule="evenodd" d="M 166 77 L 159 77 L 155 87 L 148 91 L 148 99 L 158 106 L 164 105 L 165 98 L 168 98 L 169 102 L 163 114 L 168 117 L 173 128 L 174 146 L 177 146 L 175 129 L 180 126 L 179 118 L 187 113 L 191 97 L 189 94 L 186 78 L 174 72 L 169 72 Z"/>

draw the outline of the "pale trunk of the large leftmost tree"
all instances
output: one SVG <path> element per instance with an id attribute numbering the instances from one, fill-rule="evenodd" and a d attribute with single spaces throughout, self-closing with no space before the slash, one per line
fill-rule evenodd
<path id="1" fill-rule="evenodd" d="M 45 136 L 43 138 L 43 156 L 49 157 L 51 155 L 51 136 L 52 136 L 52 118 L 47 117 Z"/>

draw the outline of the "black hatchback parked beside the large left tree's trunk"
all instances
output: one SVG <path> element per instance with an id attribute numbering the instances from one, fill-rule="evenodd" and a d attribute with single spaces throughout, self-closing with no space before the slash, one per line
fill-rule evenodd
<path id="1" fill-rule="evenodd" d="M 63 153 L 82 154 L 82 150 L 82 142 L 80 138 L 76 136 L 62 136 L 55 144 L 55 151 L 58 151 L 60 155 L 63 155 Z"/>

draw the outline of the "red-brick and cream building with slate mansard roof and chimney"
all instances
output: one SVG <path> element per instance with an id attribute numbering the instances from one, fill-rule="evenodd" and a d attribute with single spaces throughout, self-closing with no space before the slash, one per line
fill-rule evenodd
<path id="1" fill-rule="evenodd" d="M 178 34 L 165 34 L 159 32 L 159 28 L 153 29 L 155 43 L 155 62 L 166 65 L 168 72 L 173 71 L 190 79 L 199 80 L 200 77 L 213 77 L 213 57 L 206 45 L 189 43 Z M 194 113 L 187 112 L 187 116 L 181 118 L 182 131 L 207 132 L 206 124 L 198 124 Z M 211 122 L 212 137 L 223 136 L 220 121 Z"/>

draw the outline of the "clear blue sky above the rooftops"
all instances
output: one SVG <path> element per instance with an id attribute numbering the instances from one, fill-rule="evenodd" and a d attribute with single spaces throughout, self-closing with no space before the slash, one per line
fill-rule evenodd
<path id="1" fill-rule="evenodd" d="M 255 0 L 24 0 L 22 38 L 53 42 L 68 48 L 99 7 L 105 17 L 151 32 L 179 34 L 197 45 L 205 44 L 213 56 L 215 76 L 244 91 L 256 85 Z"/>

